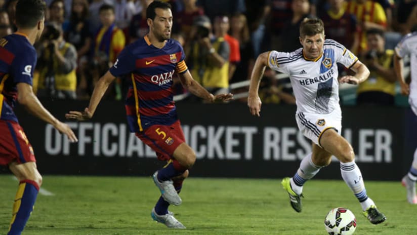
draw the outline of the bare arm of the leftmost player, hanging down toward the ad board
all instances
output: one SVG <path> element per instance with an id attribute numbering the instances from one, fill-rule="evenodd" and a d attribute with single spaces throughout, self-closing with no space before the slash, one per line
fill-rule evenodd
<path id="1" fill-rule="evenodd" d="M 57 120 L 37 99 L 35 94 L 33 93 L 32 86 L 27 83 L 18 83 L 17 84 L 17 92 L 18 98 L 17 100 L 19 103 L 26 107 L 26 109 L 39 117 L 39 119 L 51 124 L 57 129 L 60 133 L 65 134 L 68 136 L 68 139 L 71 142 L 77 142 L 77 137 L 75 136 L 74 132 L 71 128 L 59 120 Z"/>

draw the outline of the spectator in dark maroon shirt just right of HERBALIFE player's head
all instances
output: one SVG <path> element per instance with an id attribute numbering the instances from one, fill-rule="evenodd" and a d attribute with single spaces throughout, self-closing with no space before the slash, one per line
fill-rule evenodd
<path id="1" fill-rule="evenodd" d="M 325 22 L 326 38 L 337 41 L 351 52 L 357 52 L 359 47 L 359 28 L 356 16 L 346 12 L 345 0 L 329 0 L 329 9 L 323 12 L 321 20 Z M 340 73 L 340 71 L 339 71 Z"/>

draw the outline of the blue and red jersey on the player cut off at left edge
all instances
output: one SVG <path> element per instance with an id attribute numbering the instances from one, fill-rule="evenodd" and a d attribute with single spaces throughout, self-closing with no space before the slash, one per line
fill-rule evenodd
<path id="1" fill-rule="evenodd" d="M 24 34 L 14 33 L 0 39 L 0 120 L 18 122 L 13 109 L 18 83 L 32 86 L 36 50 Z"/>

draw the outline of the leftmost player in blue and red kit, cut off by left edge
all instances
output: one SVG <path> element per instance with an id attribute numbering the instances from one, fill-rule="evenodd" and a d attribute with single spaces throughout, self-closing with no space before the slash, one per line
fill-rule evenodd
<path id="1" fill-rule="evenodd" d="M 32 69 L 36 64 L 32 45 L 44 30 L 45 9 L 43 0 L 19 0 L 18 30 L 0 39 L 0 165 L 9 166 L 19 180 L 8 235 L 21 234 L 42 184 L 33 148 L 13 111 L 16 101 L 67 135 L 71 142 L 77 141 L 70 127 L 46 110 L 32 90 Z"/>

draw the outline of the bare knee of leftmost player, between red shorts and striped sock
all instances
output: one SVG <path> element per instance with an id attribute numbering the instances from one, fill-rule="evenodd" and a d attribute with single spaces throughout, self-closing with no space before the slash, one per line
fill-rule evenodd
<path id="1" fill-rule="evenodd" d="M 42 184 L 42 176 L 37 170 L 35 162 L 28 162 L 19 164 L 17 162 L 12 162 L 9 164 L 9 169 L 16 176 L 19 181 L 29 179 L 35 181 L 38 186 Z"/>

